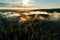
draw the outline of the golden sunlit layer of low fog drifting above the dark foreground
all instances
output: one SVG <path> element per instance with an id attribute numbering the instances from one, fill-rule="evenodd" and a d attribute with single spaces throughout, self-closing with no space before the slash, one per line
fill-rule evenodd
<path id="1" fill-rule="evenodd" d="M 7 20 L 17 20 L 16 18 L 18 18 L 19 22 L 25 22 L 28 21 L 30 19 L 42 19 L 42 20 L 47 20 L 47 21 L 57 21 L 60 20 L 60 13 L 46 13 L 46 12 L 42 12 L 45 14 L 36 14 L 36 13 L 32 13 L 29 15 L 29 13 L 15 13 L 15 12 L 5 12 L 2 13 L 0 12 L 0 15 L 3 18 L 7 18 Z M 45 16 L 44 16 L 45 15 Z"/>

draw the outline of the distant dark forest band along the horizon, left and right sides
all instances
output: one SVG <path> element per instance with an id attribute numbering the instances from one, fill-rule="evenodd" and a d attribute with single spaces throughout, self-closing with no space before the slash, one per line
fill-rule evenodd
<path id="1" fill-rule="evenodd" d="M 0 9 L 0 12 L 17 12 L 17 11 L 21 12 L 20 10 Z M 47 13 L 53 13 L 53 12 L 60 13 L 60 8 L 56 8 L 56 9 L 36 9 L 36 10 L 30 10 L 30 11 L 42 11 L 42 12 L 47 12 Z"/>

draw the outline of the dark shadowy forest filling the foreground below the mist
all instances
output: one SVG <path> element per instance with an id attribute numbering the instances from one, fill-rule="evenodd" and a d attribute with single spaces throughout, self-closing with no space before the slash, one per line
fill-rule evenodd
<path id="1" fill-rule="evenodd" d="M 35 19 L 24 23 L 0 17 L 0 40 L 59 40 L 60 23 Z"/>

